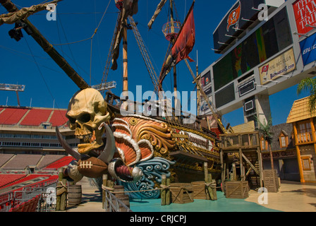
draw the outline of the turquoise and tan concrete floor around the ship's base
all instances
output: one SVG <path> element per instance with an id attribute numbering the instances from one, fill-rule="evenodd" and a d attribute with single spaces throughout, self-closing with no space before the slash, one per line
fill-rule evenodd
<path id="1" fill-rule="evenodd" d="M 130 201 L 133 212 L 316 212 L 316 184 L 281 182 L 278 193 L 268 193 L 267 204 L 260 205 L 256 191 L 245 199 L 226 198 L 217 192 L 217 201 L 195 200 L 187 204 L 161 206 L 160 200 Z M 83 189 L 83 203 L 68 206 L 66 212 L 104 212 L 102 198 L 97 189 Z"/>

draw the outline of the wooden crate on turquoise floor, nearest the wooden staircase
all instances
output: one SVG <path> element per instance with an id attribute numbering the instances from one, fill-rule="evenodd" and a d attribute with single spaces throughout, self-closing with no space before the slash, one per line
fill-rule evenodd
<path id="1" fill-rule="evenodd" d="M 225 187 L 226 198 L 248 198 L 249 196 L 248 182 L 226 182 Z"/>

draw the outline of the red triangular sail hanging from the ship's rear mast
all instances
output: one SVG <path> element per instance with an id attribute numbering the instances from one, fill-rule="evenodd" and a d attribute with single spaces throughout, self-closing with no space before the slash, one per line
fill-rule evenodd
<path id="1" fill-rule="evenodd" d="M 176 66 L 178 62 L 183 59 L 193 61 L 190 57 L 188 57 L 188 54 L 190 54 L 195 44 L 195 23 L 193 15 L 194 3 L 195 1 L 193 1 L 186 20 L 182 25 L 178 37 L 176 38 L 176 42 L 174 42 L 174 46 L 171 48 L 171 52 L 162 66 L 162 71 L 159 76 L 160 84 L 162 84 L 166 75 L 171 71 L 171 68 Z"/>

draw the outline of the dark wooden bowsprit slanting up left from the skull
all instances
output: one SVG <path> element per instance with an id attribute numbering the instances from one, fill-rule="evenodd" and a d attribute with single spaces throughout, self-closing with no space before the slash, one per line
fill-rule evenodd
<path id="1" fill-rule="evenodd" d="M 13 4 L 10 0 L 0 0 L 0 4 L 6 8 L 6 10 L 9 13 L 13 13 L 18 11 L 18 7 L 16 7 L 15 4 Z M 28 19 L 24 19 L 23 22 L 28 25 L 28 28 L 32 31 L 32 37 L 33 39 L 44 49 L 47 54 L 53 59 L 56 64 L 60 66 L 60 68 L 67 74 L 69 78 L 80 88 L 81 90 L 85 88 L 89 88 L 90 85 L 88 85 L 85 80 L 71 67 L 70 64 L 61 57 L 61 54 L 54 49 L 54 47 L 47 41 L 47 39 L 35 28 L 32 23 Z"/>

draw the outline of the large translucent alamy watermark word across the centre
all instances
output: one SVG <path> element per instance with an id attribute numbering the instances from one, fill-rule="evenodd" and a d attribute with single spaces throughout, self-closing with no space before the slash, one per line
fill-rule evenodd
<path id="1" fill-rule="evenodd" d="M 145 117 L 159 116 L 165 119 L 166 117 L 181 117 L 183 124 L 193 124 L 197 114 L 196 97 L 195 91 L 174 93 L 161 91 L 158 95 L 154 91 L 142 93 L 142 85 L 138 85 L 136 95 L 130 91 L 121 93 L 120 100 L 123 103 L 120 113 L 127 116 L 133 112 Z"/>

